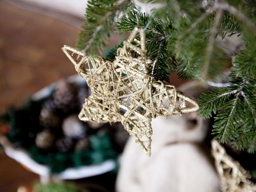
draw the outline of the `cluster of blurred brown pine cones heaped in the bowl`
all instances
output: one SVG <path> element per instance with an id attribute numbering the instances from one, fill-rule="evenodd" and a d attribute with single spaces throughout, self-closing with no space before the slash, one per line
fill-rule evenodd
<path id="1" fill-rule="evenodd" d="M 36 135 L 36 146 L 44 150 L 57 149 L 61 152 L 75 150 L 77 152 L 90 149 L 90 134 L 95 129 L 106 126 L 114 129 L 114 140 L 120 146 L 128 138 L 128 133 L 121 124 L 100 124 L 96 122 L 82 122 L 78 113 L 84 99 L 90 95 L 87 85 L 77 86 L 66 80 L 61 80 L 52 94 L 52 98 L 44 101 L 40 112 L 40 125 L 44 128 Z"/>

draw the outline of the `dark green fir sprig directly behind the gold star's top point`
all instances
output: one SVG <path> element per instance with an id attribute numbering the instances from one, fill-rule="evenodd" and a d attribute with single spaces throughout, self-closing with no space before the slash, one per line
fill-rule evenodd
<path id="1" fill-rule="evenodd" d="M 167 22 L 163 24 L 161 20 L 152 18 L 145 13 L 142 14 L 136 9 L 122 16 L 118 22 L 116 22 L 116 30 L 121 32 L 130 31 L 134 26 L 140 28 L 147 26 L 145 30 L 147 55 L 154 63 L 153 74 L 153 66 L 150 66 L 150 74 L 154 76 L 156 80 L 169 82 L 169 74 L 176 70 L 177 64 L 176 58 L 168 48 L 166 41 L 166 38 L 172 33 L 172 23 Z M 139 39 L 139 37 L 136 38 Z M 107 57 L 108 59 L 112 60 L 114 58 L 116 48 L 112 49 L 111 54 Z"/>

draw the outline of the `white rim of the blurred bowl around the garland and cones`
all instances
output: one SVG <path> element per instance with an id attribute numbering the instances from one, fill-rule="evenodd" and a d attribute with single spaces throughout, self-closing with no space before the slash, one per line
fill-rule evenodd
<path id="1" fill-rule="evenodd" d="M 70 76 L 67 78 L 68 82 L 76 83 L 76 84 L 82 84 L 85 82 L 84 79 L 82 79 L 78 75 Z M 52 92 L 54 87 L 56 86 L 58 82 L 55 82 L 42 90 L 36 92 L 32 95 L 33 100 L 40 100 L 42 98 L 45 98 L 49 96 L 49 94 Z M 109 172 L 113 170 L 116 166 L 116 163 L 114 160 L 106 160 L 100 164 L 92 164 L 89 166 L 80 166 L 78 168 L 67 168 L 66 170 L 52 175 L 50 173 L 50 168 L 46 165 L 42 165 L 34 161 L 28 152 L 24 149 L 20 148 L 13 148 L 12 144 L 8 141 L 8 139 L 5 136 L 0 136 L 0 144 L 4 147 L 4 151 L 6 152 L 7 156 L 10 158 L 16 160 L 28 170 L 40 175 L 41 182 L 47 182 L 49 178 L 54 176 L 54 178 L 58 179 L 80 179 L 80 178 L 86 178 L 91 176 L 100 175 L 106 172 Z"/>

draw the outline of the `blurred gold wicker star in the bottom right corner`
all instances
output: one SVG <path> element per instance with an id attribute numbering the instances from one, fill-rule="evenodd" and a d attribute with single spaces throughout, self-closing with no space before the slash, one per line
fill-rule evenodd
<path id="1" fill-rule="evenodd" d="M 256 185 L 249 179 L 250 174 L 232 157 L 217 140 L 212 140 L 212 155 L 220 176 L 220 187 L 224 192 L 255 192 Z"/>

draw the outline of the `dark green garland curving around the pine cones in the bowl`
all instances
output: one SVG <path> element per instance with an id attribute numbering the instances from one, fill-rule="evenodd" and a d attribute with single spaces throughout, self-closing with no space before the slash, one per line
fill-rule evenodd
<path id="1" fill-rule="evenodd" d="M 91 148 L 88 150 L 60 152 L 38 148 L 35 138 L 44 129 L 38 120 L 43 102 L 44 100 L 30 99 L 24 106 L 10 108 L 1 116 L 0 121 L 7 122 L 10 127 L 6 138 L 14 148 L 24 148 L 36 162 L 49 166 L 52 173 L 59 173 L 70 167 L 99 164 L 109 159 L 116 162 L 118 152 L 112 144 L 113 135 L 106 128 L 90 135 Z"/>

